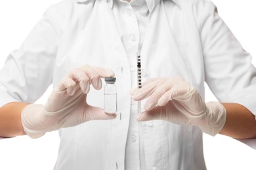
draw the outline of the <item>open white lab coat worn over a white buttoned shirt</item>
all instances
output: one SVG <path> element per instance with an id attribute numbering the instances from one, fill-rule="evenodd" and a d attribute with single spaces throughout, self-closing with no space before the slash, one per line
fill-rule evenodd
<path id="1" fill-rule="evenodd" d="M 129 63 L 112 15 L 112 0 L 63 1 L 50 7 L 0 71 L 0 103 L 33 102 L 47 87 L 81 64 L 116 73 L 115 120 L 90 121 L 60 130 L 55 169 L 124 169 L 136 86 L 136 60 Z M 137 42 L 131 42 L 137 52 Z M 206 81 L 221 102 L 240 103 L 256 114 L 256 69 L 251 56 L 203 0 L 152 0 L 141 51 L 142 81 L 182 76 L 204 96 Z M 88 103 L 103 107 L 103 92 L 91 88 Z M 202 131 L 155 120 L 140 128 L 140 163 L 145 169 L 202 170 Z"/>

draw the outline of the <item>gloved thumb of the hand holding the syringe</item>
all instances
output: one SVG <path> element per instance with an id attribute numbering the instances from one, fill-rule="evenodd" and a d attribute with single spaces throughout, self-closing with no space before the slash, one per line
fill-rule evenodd
<path id="1" fill-rule="evenodd" d="M 149 120 L 161 120 L 162 119 L 162 108 L 154 107 L 152 110 L 146 110 L 141 114 L 138 114 L 136 120 L 139 122 L 149 121 Z"/>

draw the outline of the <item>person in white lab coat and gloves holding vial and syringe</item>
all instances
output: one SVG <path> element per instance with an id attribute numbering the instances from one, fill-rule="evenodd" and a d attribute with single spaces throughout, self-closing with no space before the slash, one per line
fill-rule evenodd
<path id="1" fill-rule="evenodd" d="M 111 76 L 116 114 L 102 109 Z M 203 101 L 204 82 L 219 102 Z M 51 84 L 47 103 L 33 104 Z M 0 136 L 59 129 L 54 169 L 202 170 L 202 131 L 256 138 L 255 87 L 251 56 L 210 1 L 67 0 L 0 71 Z"/>

